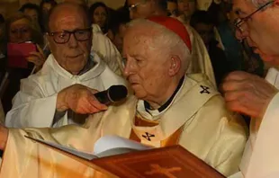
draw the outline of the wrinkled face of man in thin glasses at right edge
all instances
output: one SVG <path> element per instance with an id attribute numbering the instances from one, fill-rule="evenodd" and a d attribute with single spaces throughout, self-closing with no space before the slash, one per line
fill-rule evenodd
<path id="1" fill-rule="evenodd" d="M 273 6 L 267 6 L 266 9 L 259 11 L 251 16 L 246 22 L 243 22 L 237 30 L 238 40 L 247 39 L 247 43 L 258 53 L 266 62 L 278 65 L 279 62 L 279 31 L 275 27 L 276 13 L 272 12 Z M 257 11 L 257 7 L 250 1 L 234 0 L 233 12 L 237 18 L 245 18 L 247 15 Z"/>

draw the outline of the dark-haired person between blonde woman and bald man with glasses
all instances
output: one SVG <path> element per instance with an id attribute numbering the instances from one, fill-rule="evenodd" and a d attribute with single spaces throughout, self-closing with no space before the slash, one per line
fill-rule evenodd
<path id="1" fill-rule="evenodd" d="M 19 11 L 24 13 L 26 16 L 29 16 L 31 18 L 31 21 L 34 23 L 35 28 L 40 31 L 40 7 L 37 4 L 23 4 Z"/>

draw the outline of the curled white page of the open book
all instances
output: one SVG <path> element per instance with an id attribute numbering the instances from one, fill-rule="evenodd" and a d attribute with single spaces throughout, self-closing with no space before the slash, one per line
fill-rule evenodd
<path id="1" fill-rule="evenodd" d="M 121 138 L 119 136 L 104 136 L 99 138 L 95 145 L 94 145 L 94 155 L 102 155 L 103 152 L 108 152 L 109 150 L 117 150 L 115 148 L 119 148 L 118 150 L 122 149 L 122 153 L 125 151 L 123 150 L 146 150 L 152 147 L 148 147 L 142 145 L 136 141 L 130 140 L 128 138 Z M 120 149 L 121 148 L 121 149 Z M 126 151 L 126 153 L 127 153 Z M 128 152 L 130 152 L 128 151 Z M 117 154 L 114 154 L 117 155 Z"/>

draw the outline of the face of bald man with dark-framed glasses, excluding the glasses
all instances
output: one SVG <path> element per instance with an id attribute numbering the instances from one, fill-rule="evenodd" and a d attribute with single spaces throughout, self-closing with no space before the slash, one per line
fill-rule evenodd
<path id="1" fill-rule="evenodd" d="M 51 20 L 49 22 L 49 32 L 84 30 L 89 27 L 85 14 L 80 11 L 65 10 L 63 12 L 61 10 L 51 15 Z M 54 58 L 69 73 L 77 75 L 85 67 L 90 55 L 92 38 L 78 41 L 74 34 L 70 34 L 69 40 L 64 44 L 58 44 L 52 36 L 48 36 L 48 40 Z"/>

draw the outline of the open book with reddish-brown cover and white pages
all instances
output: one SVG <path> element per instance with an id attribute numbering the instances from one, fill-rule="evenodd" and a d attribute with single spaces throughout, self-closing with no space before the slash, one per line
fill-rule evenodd
<path id="1" fill-rule="evenodd" d="M 181 146 L 152 148 L 130 139 L 105 136 L 95 143 L 94 153 L 84 153 L 45 140 L 31 139 L 76 159 L 76 161 L 106 174 L 107 177 L 225 177 Z"/>

